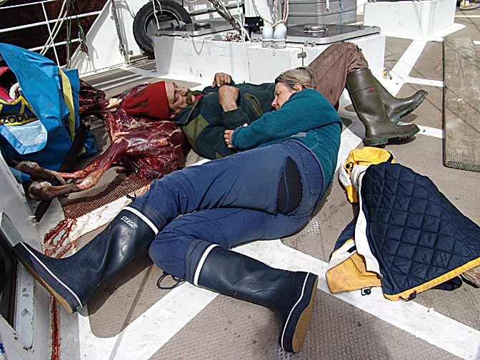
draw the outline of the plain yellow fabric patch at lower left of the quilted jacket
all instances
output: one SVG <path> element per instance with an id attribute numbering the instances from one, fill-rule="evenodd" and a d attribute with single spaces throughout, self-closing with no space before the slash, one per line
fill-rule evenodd
<path id="1" fill-rule="evenodd" d="M 363 256 L 356 252 L 341 264 L 327 270 L 326 282 L 332 294 L 381 286 L 379 276 L 374 271 L 366 270 Z"/>

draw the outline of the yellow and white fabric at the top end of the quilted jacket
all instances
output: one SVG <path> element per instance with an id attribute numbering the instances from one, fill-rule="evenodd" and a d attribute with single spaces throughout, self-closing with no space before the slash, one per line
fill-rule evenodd
<path id="1" fill-rule="evenodd" d="M 352 204 L 359 202 L 356 188 L 351 181 L 351 170 L 354 169 L 354 166 L 380 164 L 384 161 L 389 161 L 389 159 L 391 163 L 394 163 L 394 154 L 391 154 L 390 151 L 372 146 L 366 146 L 362 149 L 354 149 L 349 152 L 349 156 L 346 158 L 344 166 L 339 171 L 339 179 L 344 187 L 347 198 Z"/>

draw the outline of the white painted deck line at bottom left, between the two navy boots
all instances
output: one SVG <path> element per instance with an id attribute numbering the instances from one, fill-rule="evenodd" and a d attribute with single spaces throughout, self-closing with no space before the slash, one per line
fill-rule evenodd
<path id="1" fill-rule="evenodd" d="M 61 354 L 65 356 L 60 357 L 79 354 L 78 359 L 150 359 L 217 295 L 188 283 L 177 286 L 111 338 L 93 334 L 86 307 L 81 314 L 67 314 L 61 308 Z"/>

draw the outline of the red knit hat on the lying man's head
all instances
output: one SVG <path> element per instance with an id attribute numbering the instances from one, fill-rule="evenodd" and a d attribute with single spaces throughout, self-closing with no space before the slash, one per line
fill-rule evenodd
<path id="1" fill-rule="evenodd" d="M 126 114 L 169 119 L 169 98 L 166 96 L 165 81 L 146 86 L 122 101 Z"/>

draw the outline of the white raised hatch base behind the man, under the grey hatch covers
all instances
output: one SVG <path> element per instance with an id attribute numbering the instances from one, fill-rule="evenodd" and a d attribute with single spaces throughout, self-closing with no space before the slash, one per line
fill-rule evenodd
<path id="1" fill-rule="evenodd" d="M 308 65 L 329 44 L 306 47 L 287 44 L 285 49 L 263 48 L 258 43 L 217 41 L 214 36 L 181 38 L 154 36 L 156 68 L 159 76 L 174 75 L 211 84 L 216 72 L 230 74 L 234 81 L 261 84 L 274 81 L 281 71 Z M 350 39 L 364 53 L 372 73 L 381 77 L 384 69 L 385 36 L 374 34 Z M 306 58 L 299 56 L 306 53 Z"/>

